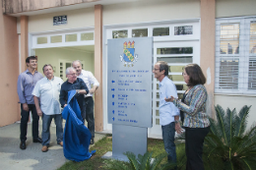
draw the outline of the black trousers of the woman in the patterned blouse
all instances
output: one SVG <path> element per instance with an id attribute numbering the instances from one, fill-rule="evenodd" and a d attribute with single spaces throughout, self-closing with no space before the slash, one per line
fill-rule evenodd
<path id="1" fill-rule="evenodd" d="M 186 170 L 204 170 L 203 145 L 210 127 L 185 128 Z"/>

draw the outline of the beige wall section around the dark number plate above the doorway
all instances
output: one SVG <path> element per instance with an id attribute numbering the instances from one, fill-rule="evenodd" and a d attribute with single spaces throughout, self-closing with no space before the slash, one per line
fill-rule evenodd
<path id="1" fill-rule="evenodd" d="M 53 17 L 67 15 L 68 24 L 53 26 Z M 86 8 L 73 11 L 63 11 L 29 17 L 29 32 L 60 30 L 67 28 L 87 28 L 95 26 L 95 9 Z"/>

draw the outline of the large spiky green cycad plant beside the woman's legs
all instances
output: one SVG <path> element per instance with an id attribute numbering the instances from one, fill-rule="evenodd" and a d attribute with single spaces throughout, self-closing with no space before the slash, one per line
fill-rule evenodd
<path id="1" fill-rule="evenodd" d="M 245 132 L 250 106 L 243 106 L 237 114 L 217 105 L 217 120 L 210 118 L 211 131 L 205 139 L 206 164 L 211 169 L 256 169 L 256 127 Z"/>

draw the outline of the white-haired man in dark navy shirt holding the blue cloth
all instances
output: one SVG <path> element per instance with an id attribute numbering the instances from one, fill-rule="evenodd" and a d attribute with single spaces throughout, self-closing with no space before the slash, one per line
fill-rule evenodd
<path id="1" fill-rule="evenodd" d="M 77 78 L 76 70 L 72 67 L 67 68 L 66 70 L 66 76 L 68 80 L 61 85 L 60 89 L 60 95 L 59 95 L 59 101 L 61 104 L 61 107 L 65 107 L 67 105 L 68 101 L 68 91 L 72 89 L 77 90 L 77 100 L 80 107 L 80 110 L 84 110 L 84 95 L 89 92 L 87 85 L 84 83 L 84 81 L 80 78 Z"/>

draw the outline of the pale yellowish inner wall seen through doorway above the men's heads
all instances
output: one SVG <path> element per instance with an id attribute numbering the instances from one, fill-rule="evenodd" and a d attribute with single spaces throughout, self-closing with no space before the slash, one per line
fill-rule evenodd
<path id="1" fill-rule="evenodd" d="M 59 77 L 59 60 L 74 61 L 81 60 L 85 63 L 85 69 L 94 73 L 95 62 L 94 53 L 88 53 L 78 50 L 70 50 L 65 48 L 45 48 L 36 49 L 35 55 L 38 57 L 38 72 L 42 73 L 44 64 L 51 64 L 56 67 L 55 76 Z"/>

